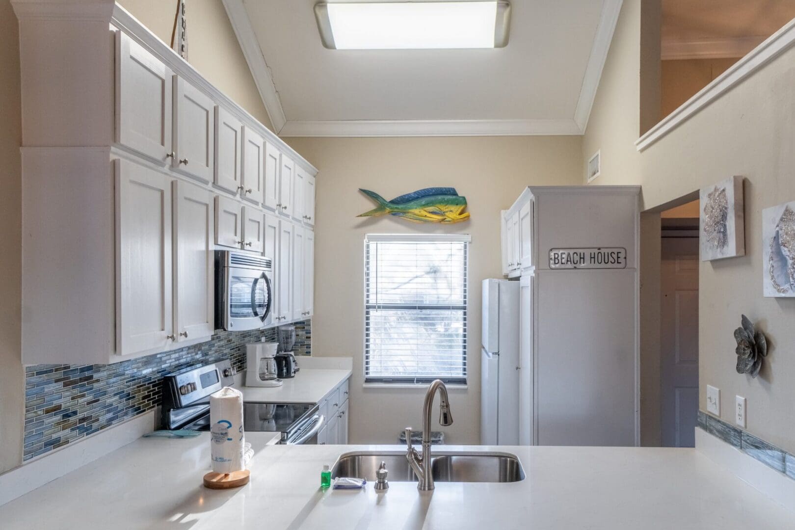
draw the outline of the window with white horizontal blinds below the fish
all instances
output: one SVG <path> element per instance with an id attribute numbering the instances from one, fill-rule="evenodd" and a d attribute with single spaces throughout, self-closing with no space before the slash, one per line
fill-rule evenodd
<path id="1" fill-rule="evenodd" d="M 467 382 L 468 242 L 366 236 L 365 382 Z"/>

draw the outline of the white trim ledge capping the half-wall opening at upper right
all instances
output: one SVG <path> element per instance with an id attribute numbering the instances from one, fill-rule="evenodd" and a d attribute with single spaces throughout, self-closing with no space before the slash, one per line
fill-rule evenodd
<path id="1" fill-rule="evenodd" d="M 750 53 L 732 64 L 726 72 L 715 78 L 712 83 L 696 92 L 692 98 L 682 103 L 677 110 L 666 116 L 635 141 L 638 151 L 644 151 L 650 145 L 665 137 L 668 133 L 681 126 L 693 114 L 700 112 L 705 106 L 718 99 L 721 95 L 742 83 L 744 79 L 763 68 L 771 60 L 795 44 L 795 19 L 779 29 L 766 41 L 759 44 Z"/>

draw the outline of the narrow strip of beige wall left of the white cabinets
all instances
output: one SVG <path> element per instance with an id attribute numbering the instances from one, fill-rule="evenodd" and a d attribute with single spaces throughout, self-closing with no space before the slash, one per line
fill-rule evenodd
<path id="1" fill-rule="evenodd" d="M 9 0 L 0 0 L 0 473 L 22 460 L 25 377 L 21 331 L 21 102 L 19 33 Z"/>

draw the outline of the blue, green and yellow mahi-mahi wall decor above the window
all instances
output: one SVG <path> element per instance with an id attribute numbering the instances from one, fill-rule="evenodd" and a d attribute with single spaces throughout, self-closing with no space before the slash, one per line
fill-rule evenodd
<path id="1" fill-rule="evenodd" d="M 464 211 L 467 198 L 459 195 L 456 188 L 425 188 L 392 200 L 385 200 L 374 191 L 361 188 L 359 191 L 378 204 L 359 217 L 396 215 L 411 222 L 461 222 L 469 219 L 469 212 Z"/>

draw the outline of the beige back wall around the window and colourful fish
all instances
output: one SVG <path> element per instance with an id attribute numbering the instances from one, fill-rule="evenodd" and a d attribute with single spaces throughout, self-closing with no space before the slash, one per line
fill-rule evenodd
<path id="1" fill-rule="evenodd" d="M 367 233 L 471 234 L 466 390 L 453 390 L 450 443 L 479 443 L 480 281 L 502 277 L 499 211 L 529 184 L 580 184 L 580 137 L 286 138 L 320 169 L 317 177 L 315 316 L 312 354 L 352 356 L 351 442 L 394 443 L 419 429 L 425 389 L 363 388 L 363 240 Z M 359 219 L 372 203 L 358 188 L 391 198 L 454 186 L 471 220 L 417 225 L 393 217 Z"/>

